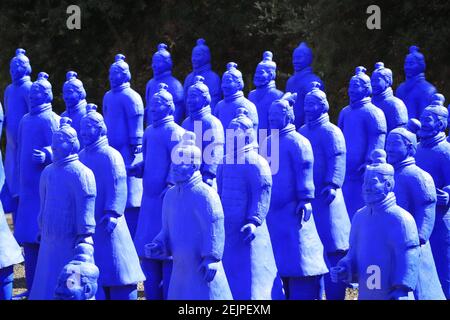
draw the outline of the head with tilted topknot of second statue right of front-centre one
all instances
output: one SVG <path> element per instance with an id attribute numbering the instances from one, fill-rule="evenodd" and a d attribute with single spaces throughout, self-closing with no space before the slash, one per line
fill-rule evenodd
<path id="1" fill-rule="evenodd" d="M 297 93 L 286 92 L 281 99 L 272 102 L 269 108 L 270 129 L 281 130 L 288 124 L 294 123 L 294 104 Z"/>

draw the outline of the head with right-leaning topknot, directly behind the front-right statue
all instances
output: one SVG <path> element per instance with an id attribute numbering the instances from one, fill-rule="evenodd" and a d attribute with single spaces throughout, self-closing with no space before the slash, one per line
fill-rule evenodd
<path id="1" fill-rule="evenodd" d="M 406 128 L 395 128 L 389 132 L 386 139 L 386 153 L 390 164 L 396 165 L 409 157 L 414 157 L 417 150 L 416 133 L 419 129 L 419 120 L 410 119 Z"/>

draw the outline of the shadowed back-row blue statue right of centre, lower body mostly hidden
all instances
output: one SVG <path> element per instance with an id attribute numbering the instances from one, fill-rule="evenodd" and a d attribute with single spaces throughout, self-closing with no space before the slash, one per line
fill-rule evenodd
<path id="1" fill-rule="evenodd" d="M 312 83 L 320 83 L 320 89 L 324 90 L 322 80 L 312 70 L 313 53 L 305 42 L 301 42 L 292 53 L 292 65 L 294 74 L 286 83 L 286 92 L 297 93 L 294 106 L 295 127 L 299 129 L 305 123 L 303 102 L 305 95 L 311 91 Z"/>

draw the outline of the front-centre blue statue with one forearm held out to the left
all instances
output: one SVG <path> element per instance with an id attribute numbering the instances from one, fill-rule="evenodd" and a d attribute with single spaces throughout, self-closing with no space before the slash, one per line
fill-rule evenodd
<path id="1" fill-rule="evenodd" d="M 224 215 L 217 192 L 202 181 L 201 151 L 187 131 L 172 159 L 175 186 L 162 207 L 162 229 L 146 254 L 172 256 L 168 299 L 231 300 L 222 265 Z"/>

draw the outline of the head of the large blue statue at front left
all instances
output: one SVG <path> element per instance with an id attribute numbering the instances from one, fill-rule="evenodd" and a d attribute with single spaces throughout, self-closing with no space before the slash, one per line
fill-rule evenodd
<path id="1" fill-rule="evenodd" d="M 54 161 L 77 154 L 80 150 L 77 132 L 72 128 L 71 124 L 72 119 L 62 117 L 59 123 L 59 129 L 53 133 L 52 151 Z"/>

